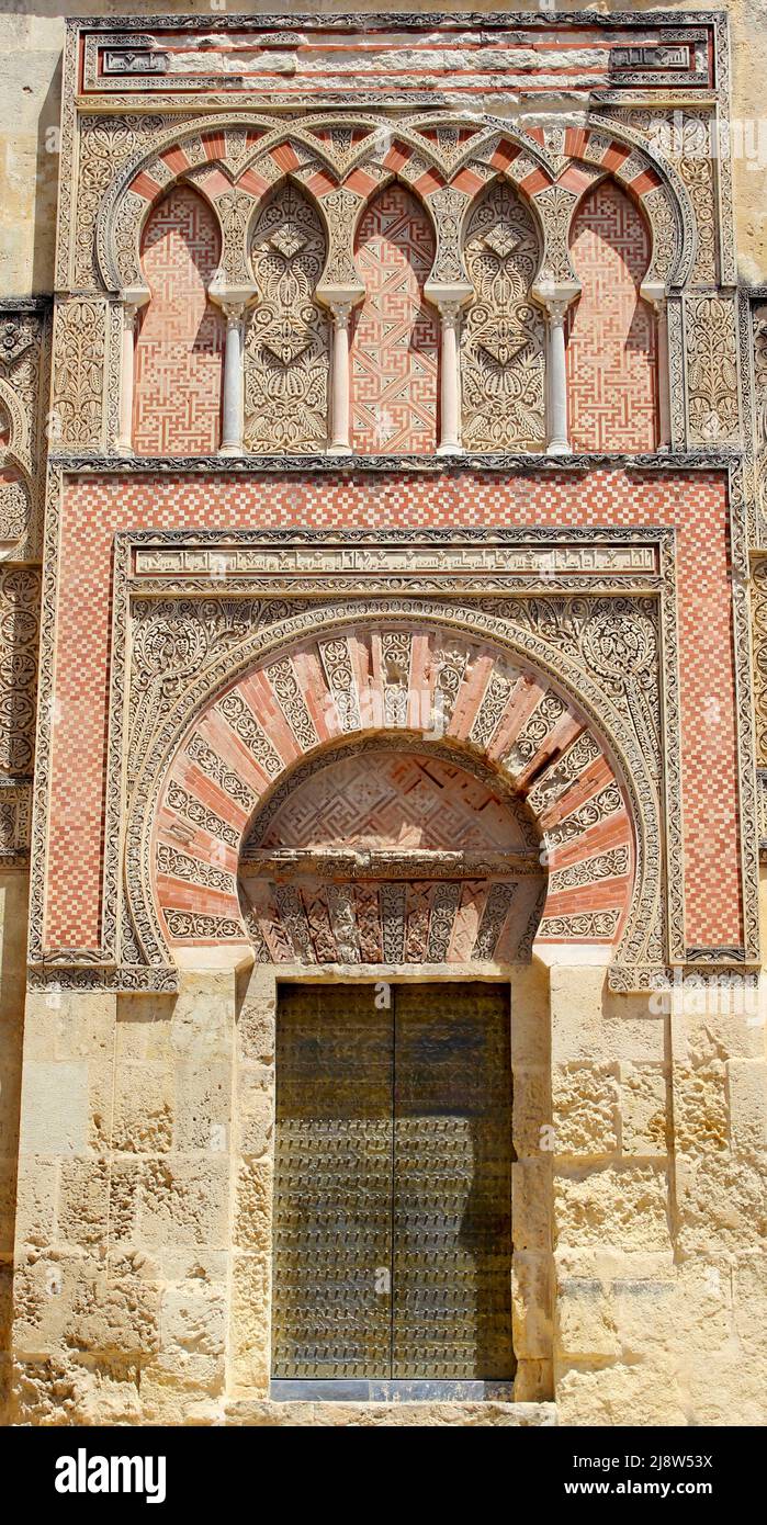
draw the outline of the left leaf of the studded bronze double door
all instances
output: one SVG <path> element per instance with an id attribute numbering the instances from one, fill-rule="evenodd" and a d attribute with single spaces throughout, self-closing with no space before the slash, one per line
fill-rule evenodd
<path id="1" fill-rule="evenodd" d="M 276 1377 L 389 1376 L 392 1037 L 372 985 L 281 987 Z"/>

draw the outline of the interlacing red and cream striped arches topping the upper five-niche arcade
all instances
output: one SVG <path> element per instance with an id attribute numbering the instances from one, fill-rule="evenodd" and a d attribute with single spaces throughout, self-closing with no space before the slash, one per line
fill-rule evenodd
<path id="1" fill-rule="evenodd" d="M 461 128 L 461 113 L 454 120 Z M 276 181 L 291 174 L 320 207 L 326 197 L 343 189 L 354 198 L 358 215 L 381 180 L 396 174 L 435 209 L 439 265 L 441 194 L 451 191 L 473 200 L 486 180 L 500 172 L 531 200 L 543 198 L 540 215 L 546 226 L 546 192 L 558 186 L 570 194 L 575 206 L 592 178 L 584 177 L 584 163 L 615 174 L 630 195 L 642 201 L 653 227 L 648 274 L 674 285 L 688 278 L 695 253 L 695 218 L 688 192 L 676 171 L 631 128 L 599 119 L 567 127 L 564 154 L 569 163 L 561 168 L 546 149 L 543 136 L 538 140 L 534 133 L 517 131 L 506 122 L 486 117 L 485 130 L 470 134 L 457 152 L 441 148 L 439 139 L 425 137 L 416 122 L 418 117 L 412 127 L 398 122 L 392 136 L 392 124 L 375 117 L 308 116 L 274 127 L 273 120 L 247 114 L 204 117 L 188 130 L 169 131 L 165 142 L 136 156 L 120 171 L 104 198 L 96 256 L 107 290 L 142 288 L 139 241 L 143 223 L 162 192 L 185 175 L 200 178 L 213 206 L 236 191 L 255 212 Z M 567 227 L 552 244 L 566 249 Z"/>

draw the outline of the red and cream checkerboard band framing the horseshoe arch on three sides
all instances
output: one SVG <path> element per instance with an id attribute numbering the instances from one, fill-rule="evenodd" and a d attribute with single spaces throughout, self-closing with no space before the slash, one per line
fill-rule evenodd
<path id="1" fill-rule="evenodd" d="M 714 470 L 660 477 L 599 468 L 512 479 L 470 471 L 75 479 L 63 505 L 49 946 L 99 941 L 113 535 L 253 525 L 676 525 L 686 936 L 701 947 L 741 941 L 726 477 Z"/>

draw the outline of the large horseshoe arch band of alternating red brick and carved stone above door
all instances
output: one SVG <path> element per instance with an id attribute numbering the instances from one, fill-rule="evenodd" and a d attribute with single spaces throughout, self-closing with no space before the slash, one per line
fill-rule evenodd
<path id="1" fill-rule="evenodd" d="M 314 610 L 314 624 L 322 613 Z M 331 753 L 383 747 L 483 770 L 514 810 L 525 807 L 529 877 L 541 886 L 547 872 L 538 944 L 587 942 L 621 958 L 630 947 L 639 961 L 637 929 L 647 936 L 659 900 L 656 824 L 647 819 L 653 784 L 647 770 L 637 782 L 640 752 L 622 756 L 628 738 L 605 741 L 596 691 L 567 695 L 566 660 L 558 671 L 532 666 L 529 650 L 459 633 L 445 613 L 396 621 L 378 610 L 352 627 L 334 612 L 311 639 L 276 639 L 258 660 L 242 653 L 236 679 L 218 682 L 191 724 L 178 726 L 157 791 L 145 791 L 143 827 L 136 814 L 130 833 L 130 856 L 143 854 L 148 869 L 149 907 L 134 903 L 134 923 L 139 936 L 157 929 L 160 956 L 244 944 L 241 859 L 253 820 Z M 615 723 L 604 695 L 602 709 Z"/>

